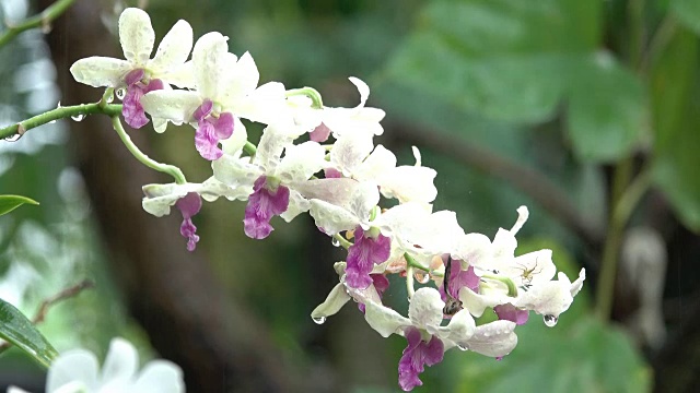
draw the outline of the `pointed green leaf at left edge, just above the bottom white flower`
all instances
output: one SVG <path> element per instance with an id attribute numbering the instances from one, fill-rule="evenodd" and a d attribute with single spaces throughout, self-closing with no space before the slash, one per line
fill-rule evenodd
<path id="1" fill-rule="evenodd" d="M 34 360 L 49 367 L 58 352 L 14 306 L 0 299 L 0 338 L 14 344 Z"/>

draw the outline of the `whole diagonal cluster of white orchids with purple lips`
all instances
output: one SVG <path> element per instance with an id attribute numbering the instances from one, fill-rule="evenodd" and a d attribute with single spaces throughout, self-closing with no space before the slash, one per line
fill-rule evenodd
<path id="1" fill-rule="evenodd" d="M 190 124 L 195 148 L 212 167 L 200 183 L 176 179 L 144 186 L 143 209 L 160 217 L 177 207 L 190 251 L 200 240 L 192 218 L 202 200 L 246 201 L 243 228 L 254 239 L 270 235 L 275 216 L 290 222 L 308 213 L 318 230 L 348 251 L 335 264 L 339 284 L 313 310 L 313 320 L 323 323 L 353 299 L 381 335 L 406 337 L 398 364 L 401 389 L 421 385 L 424 366 L 440 362 L 453 347 L 506 356 L 517 344 L 516 325 L 530 311 L 552 326 L 582 288 L 585 272 L 573 283 L 557 275 L 550 250 L 515 257 L 526 207 L 492 240 L 465 233 L 454 212 L 434 212 L 435 170 L 422 166 L 416 147 L 416 163 L 398 165 L 394 153 L 374 144 L 385 114 L 365 106 L 370 90 L 361 80 L 350 78 L 358 106 L 326 107 L 310 87 L 258 86 L 253 57 L 229 52 L 228 38 L 219 33 L 205 34 L 192 49 L 185 21 L 165 35 L 153 58 L 155 38 L 145 12 L 125 10 L 119 38 L 126 60 L 81 59 L 71 67 L 75 80 L 116 90 L 124 119 L 135 129 L 149 121 L 158 132 L 168 122 Z M 257 146 L 248 142 L 243 119 L 266 126 Z M 393 206 L 380 207 L 382 196 L 395 200 Z M 406 281 L 408 318 L 382 301 L 390 275 Z M 475 318 L 487 309 L 498 320 L 477 325 Z"/>

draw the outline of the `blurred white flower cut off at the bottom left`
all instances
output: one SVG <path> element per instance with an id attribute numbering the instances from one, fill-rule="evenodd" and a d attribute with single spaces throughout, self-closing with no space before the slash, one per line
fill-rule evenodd
<path id="1" fill-rule="evenodd" d="M 97 357 L 85 349 L 60 355 L 48 370 L 47 393 L 180 393 L 183 371 L 167 360 L 149 361 L 138 371 L 139 356 L 133 345 L 114 338 L 100 372 Z M 8 393 L 24 392 L 10 388 Z"/>

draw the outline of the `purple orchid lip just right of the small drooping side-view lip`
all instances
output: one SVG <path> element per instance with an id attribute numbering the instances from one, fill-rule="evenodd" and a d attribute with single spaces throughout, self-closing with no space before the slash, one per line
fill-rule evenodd
<path id="1" fill-rule="evenodd" d="M 248 196 L 245 207 L 243 227 L 245 234 L 253 239 L 265 239 L 275 228 L 270 219 L 287 212 L 289 207 L 289 188 L 279 184 L 262 175 L 253 186 L 253 193 Z"/>

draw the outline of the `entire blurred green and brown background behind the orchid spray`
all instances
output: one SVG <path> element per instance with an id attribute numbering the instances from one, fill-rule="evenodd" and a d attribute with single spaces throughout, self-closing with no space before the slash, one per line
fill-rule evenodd
<path id="1" fill-rule="evenodd" d="M 1 0 L 0 11 L 19 21 L 50 3 Z M 571 278 L 586 267 L 556 327 L 530 314 L 510 356 L 450 352 L 417 391 L 700 388 L 700 1 L 77 0 L 50 33 L 0 48 L 0 122 L 98 100 L 68 69 L 121 57 L 116 21 L 133 5 L 156 43 L 178 19 L 195 38 L 219 31 L 232 52 L 250 51 L 261 83 L 314 86 L 327 106 L 355 106 L 347 78 L 366 81 L 369 106 L 387 112 L 375 144 L 406 165 L 421 148 L 439 172 L 435 210 L 492 237 L 525 204 L 517 253 L 551 248 Z M 130 134 L 190 181 L 211 176 L 191 128 Z M 125 336 L 142 361 L 180 365 L 189 392 L 398 391 L 404 338 L 382 338 L 353 305 L 323 325 L 308 317 L 342 258 L 310 217 L 275 222 L 257 241 L 243 234 L 243 203 L 206 203 L 188 253 L 177 214 L 141 209 L 141 186 L 168 181 L 106 118 L 0 142 L 0 193 L 42 203 L 0 218 L 0 297 L 32 314 L 91 278 L 95 289 L 50 310 L 47 337 L 104 356 Z M 401 287 L 385 299 L 405 312 Z M 43 376 L 20 353 L 0 358 L 0 385 L 39 392 Z"/>

